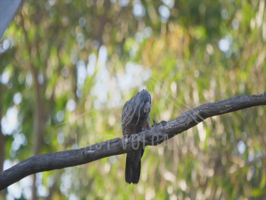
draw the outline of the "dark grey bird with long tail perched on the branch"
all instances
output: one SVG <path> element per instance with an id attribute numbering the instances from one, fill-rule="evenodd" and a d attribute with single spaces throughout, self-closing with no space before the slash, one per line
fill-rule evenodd
<path id="1" fill-rule="evenodd" d="M 129 99 L 122 111 L 123 137 L 129 138 L 150 127 L 151 95 L 143 89 Z M 141 157 L 144 147 L 127 153 L 125 178 L 127 183 L 138 183 L 140 178 Z"/>

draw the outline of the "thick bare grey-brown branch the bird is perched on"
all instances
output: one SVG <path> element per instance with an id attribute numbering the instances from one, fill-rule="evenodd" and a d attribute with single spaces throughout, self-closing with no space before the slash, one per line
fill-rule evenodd
<path id="1" fill-rule="evenodd" d="M 155 123 L 129 139 L 117 137 L 84 148 L 36 155 L 0 172 L 0 190 L 40 171 L 88 163 L 103 157 L 127 153 L 142 145 L 158 145 L 208 117 L 258 105 L 266 105 L 266 92 L 259 95 L 239 95 L 200 105 L 171 121 Z"/>

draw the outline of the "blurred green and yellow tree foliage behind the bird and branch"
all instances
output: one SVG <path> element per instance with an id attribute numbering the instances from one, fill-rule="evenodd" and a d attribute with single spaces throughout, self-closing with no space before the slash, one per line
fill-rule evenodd
<path id="1" fill-rule="evenodd" d="M 265 57 L 264 0 L 24 1 L 0 41 L 0 169 L 122 137 L 122 106 L 142 88 L 157 121 L 262 93 Z M 137 185 L 123 154 L 27 176 L 0 198 L 262 198 L 265 113 L 211 117 L 148 146 Z"/>

